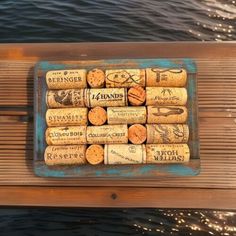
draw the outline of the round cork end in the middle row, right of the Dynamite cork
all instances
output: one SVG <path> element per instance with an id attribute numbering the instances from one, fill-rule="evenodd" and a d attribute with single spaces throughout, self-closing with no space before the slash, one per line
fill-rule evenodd
<path id="1" fill-rule="evenodd" d="M 88 119 L 93 125 L 103 125 L 107 120 L 107 112 L 102 107 L 94 107 L 89 111 Z"/>

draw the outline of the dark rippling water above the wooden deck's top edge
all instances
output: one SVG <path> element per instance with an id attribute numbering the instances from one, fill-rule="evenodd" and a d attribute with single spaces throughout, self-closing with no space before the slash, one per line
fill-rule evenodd
<path id="1" fill-rule="evenodd" d="M 236 0 L 0 2 L 0 42 L 235 40 Z"/>

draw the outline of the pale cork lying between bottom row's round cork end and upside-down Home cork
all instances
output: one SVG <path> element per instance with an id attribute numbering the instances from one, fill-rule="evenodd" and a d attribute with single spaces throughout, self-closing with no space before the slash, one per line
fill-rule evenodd
<path id="1" fill-rule="evenodd" d="M 104 164 L 143 164 L 146 163 L 144 144 L 108 144 L 104 148 Z"/>

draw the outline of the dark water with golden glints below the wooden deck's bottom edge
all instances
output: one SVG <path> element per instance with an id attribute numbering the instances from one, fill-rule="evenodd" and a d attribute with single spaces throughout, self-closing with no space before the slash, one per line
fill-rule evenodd
<path id="1" fill-rule="evenodd" d="M 2 209 L 0 235 L 236 235 L 235 216 L 205 210 Z"/>

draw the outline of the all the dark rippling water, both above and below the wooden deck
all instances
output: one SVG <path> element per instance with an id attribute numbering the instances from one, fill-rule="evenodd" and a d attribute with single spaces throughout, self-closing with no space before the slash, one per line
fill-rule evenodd
<path id="1" fill-rule="evenodd" d="M 236 0 L 1 0 L 0 42 L 236 40 Z M 236 235 L 236 212 L 0 209 L 0 236 Z"/>

